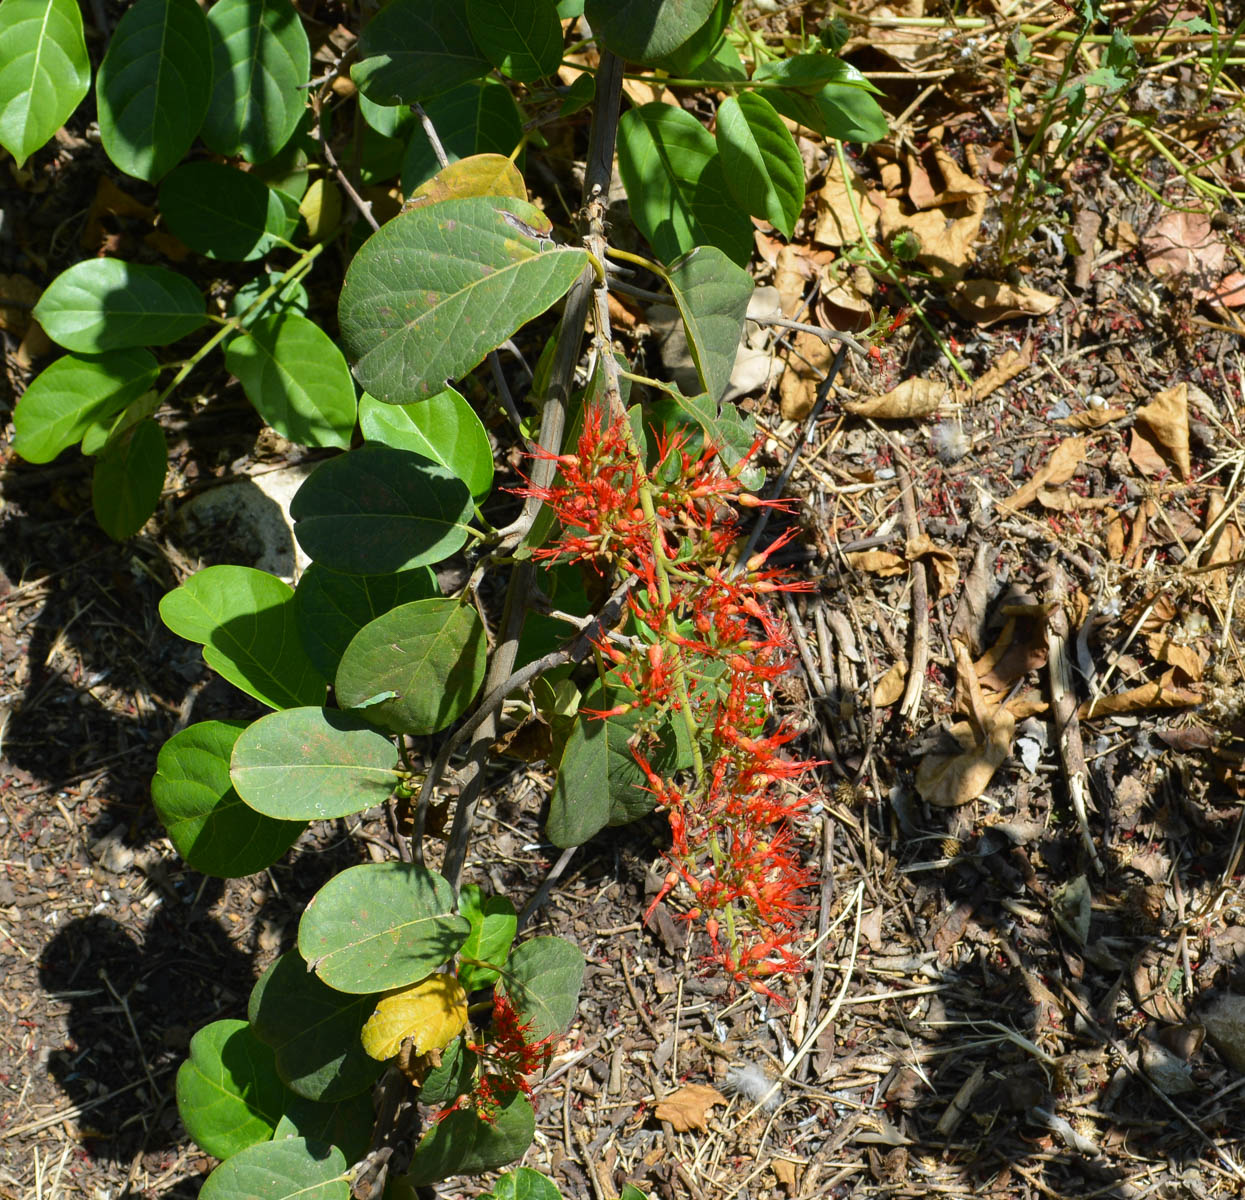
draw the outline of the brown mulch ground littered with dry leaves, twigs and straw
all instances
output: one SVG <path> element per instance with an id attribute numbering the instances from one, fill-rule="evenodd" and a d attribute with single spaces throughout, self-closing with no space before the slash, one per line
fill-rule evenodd
<path id="1" fill-rule="evenodd" d="M 956 118 L 964 92 L 980 108 L 998 96 L 921 92 L 940 61 L 909 63 L 915 81 L 895 87 L 916 108 L 890 152 L 859 159 L 879 198 L 915 194 L 911 161 L 936 192 L 935 143 L 967 168 L 997 141 Z M 804 148 L 812 194 L 833 171 Z M 888 174 L 888 153 L 909 173 Z M 90 203 L 101 161 L 70 139 L 32 178 L 78 171 Z M 1150 193 L 1178 179 L 1162 159 L 1144 179 L 1088 153 L 1064 180 L 1101 229 L 1076 253 L 1038 235 L 1013 283 L 1050 298 L 1041 312 L 984 324 L 954 286 L 918 285 L 976 387 L 914 319 L 880 363 L 849 365 L 817 417 L 788 487 L 792 561 L 814 589 L 789 605 L 801 668 L 774 701 L 825 761 L 803 830 L 820 868 L 808 973 L 786 1005 L 738 995 L 698 970 L 677 896 L 640 924 L 664 875 L 659 819 L 583 848 L 529 926 L 589 960 L 524 1160 L 568 1196 L 613 1200 L 627 1181 L 680 1200 L 1243 1194 L 1245 1049 L 1234 1068 L 1204 1041 L 1211 1000 L 1245 992 L 1241 330 L 1188 271 L 1155 269 L 1144 233 L 1168 210 Z M 31 187 L 4 270 L 40 274 L 19 245 L 86 220 Z M 926 210 L 939 203 L 966 202 Z M 802 271 L 806 320 L 863 294 L 859 276 L 818 274 L 835 255 L 810 228 L 833 204 L 810 200 L 794 259 L 758 239 L 758 283 L 781 301 Z M 996 220 L 987 205 L 979 259 Z M 1214 237 L 1233 248 L 1239 232 L 1221 205 Z M 1205 243 L 1168 233 L 1203 260 Z M 791 382 L 743 401 L 772 474 L 804 432 L 817 366 L 815 340 L 776 332 Z M 7 420 L 30 371 L 5 337 Z M 913 376 L 945 385 L 935 416 L 849 411 Z M 376 851 L 350 834 L 387 838 L 376 814 L 316 828 L 264 875 L 222 883 L 186 869 L 154 818 L 162 742 L 250 713 L 156 611 L 190 570 L 230 560 L 227 535 L 187 540 L 182 500 L 273 462 L 223 372 L 198 386 L 212 405 L 166 415 L 166 503 L 125 545 L 88 515 L 81 459 L 10 453 L 0 476 L 5 1200 L 195 1195 L 214 1164 L 173 1103 L 189 1036 L 242 1015 L 316 888 Z M 991 737 L 997 769 L 974 789 Z M 494 771 L 468 878 L 522 904 L 557 858 L 549 780 Z"/>

